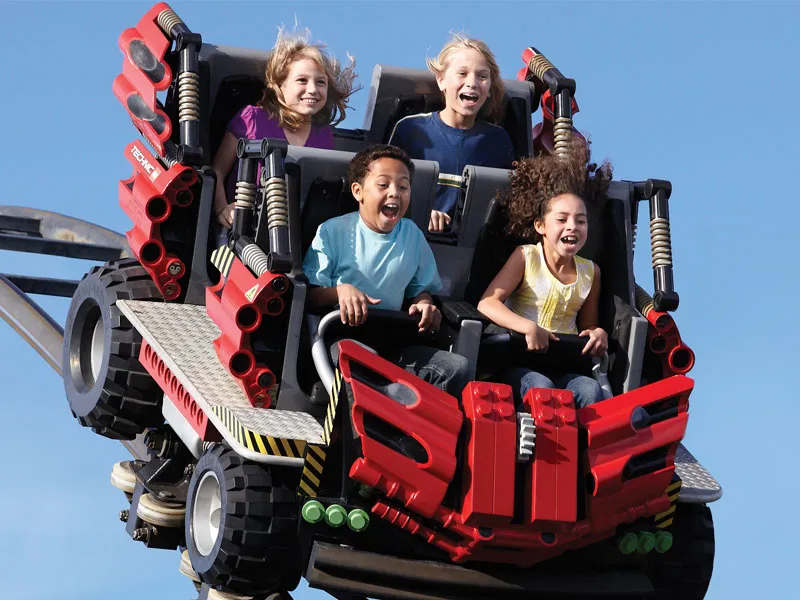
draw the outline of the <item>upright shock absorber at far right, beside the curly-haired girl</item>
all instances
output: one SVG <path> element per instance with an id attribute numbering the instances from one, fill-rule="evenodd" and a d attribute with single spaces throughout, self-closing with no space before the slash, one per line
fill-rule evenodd
<path id="1" fill-rule="evenodd" d="M 650 201 L 650 255 L 653 264 L 653 305 L 659 312 L 678 308 L 672 272 L 672 239 L 669 228 L 669 197 L 672 184 L 648 179 L 644 196 Z"/>

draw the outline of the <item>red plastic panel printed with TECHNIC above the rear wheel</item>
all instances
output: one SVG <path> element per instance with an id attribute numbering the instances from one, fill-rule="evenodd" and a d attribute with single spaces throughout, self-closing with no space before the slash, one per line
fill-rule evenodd
<path id="1" fill-rule="evenodd" d="M 119 183 L 120 206 L 133 221 L 128 245 L 164 298 L 174 300 L 180 296 L 178 280 L 186 274 L 186 265 L 166 251 L 161 223 L 169 219 L 174 206 L 191 204 L 189 188 L 197 173 L 181 164 L 165 169 L 141 142 L 128 144 L 125 157 L 133 165 L 133 175 Z"/>

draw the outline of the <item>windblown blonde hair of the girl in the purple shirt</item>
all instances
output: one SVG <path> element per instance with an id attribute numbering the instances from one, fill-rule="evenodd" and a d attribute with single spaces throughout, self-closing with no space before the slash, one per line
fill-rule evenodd
<path id="1" fill-rule="evenodd" d="M 295 61 L 308 58 L 313 60 L 328 78 L 328 99 L 325 106 L 312 117 L 315 125 L 336 125 L 345 117 L 347 100 L 356 91 L 355 59 L 348 55 L 348 65 L 328 56 L 323 44 L 312 44 L 308 41 L 310 32 L 287 34 L 283 30 L 278 33 L 278 41 L 270 51 L 267 67 L 264 71 L 264 94 L 259 105 L 271 118 L 277 119 L 281 128 L 299 129 L 304 122 L 303 116 L 286 106 L 281 84 L 289 76 L 289 70 Z"/>

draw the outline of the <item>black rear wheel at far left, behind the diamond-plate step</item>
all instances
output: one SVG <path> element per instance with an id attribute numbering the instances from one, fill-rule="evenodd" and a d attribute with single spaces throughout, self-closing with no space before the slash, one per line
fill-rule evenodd
<path id="1" fill-rule="evenodd" d="M 112 439 L 130 440 L 164 422 L 163 392 L 139 363 L 142 336 L 117 300 L 163 301 L 134 259 L 94 267 L 78 284 L 64 327 L 62 369 L 72 414 Z"/>

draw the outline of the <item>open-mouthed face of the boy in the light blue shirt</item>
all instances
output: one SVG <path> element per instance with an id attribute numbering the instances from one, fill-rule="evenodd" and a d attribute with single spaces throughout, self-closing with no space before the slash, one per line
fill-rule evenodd
<path id="1" fill-rule="evenodd" d="M 354 181 L 350 189 L 364 224 L 377 233 L 389 233 L 408 210 L 411 177 L 401 161 L 379 158 L 369 165 L 364 181 Z"/>

